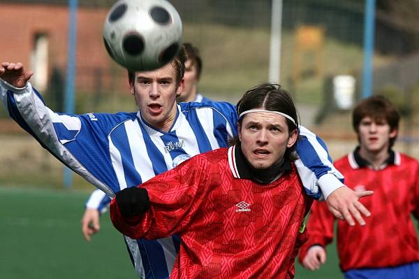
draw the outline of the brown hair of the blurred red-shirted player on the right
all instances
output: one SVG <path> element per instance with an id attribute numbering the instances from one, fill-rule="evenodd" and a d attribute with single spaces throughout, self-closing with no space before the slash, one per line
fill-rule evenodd
<path id="1" fill-rule="evenodd" d="M 356 134 L 359 134 L 360 122 L 364 117 L 371 117 L 374 121 L 385 120 L 390 126 L 390 131 L 399 129 L 400 113 L 384 96 L 371 96 L 362 100 L 353 109 L 352 126 Z M 390 138 L 390 148 L 394 145 L 396 138 L 397 136 Z"/>

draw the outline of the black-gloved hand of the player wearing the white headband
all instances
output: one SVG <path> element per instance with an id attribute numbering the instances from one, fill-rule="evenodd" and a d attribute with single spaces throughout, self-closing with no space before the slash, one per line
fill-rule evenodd
<path id="1" fill-rule="evenodd" d="M 124 217 L 142 215 L 150 206 L 147 190 L 138 187 L 129 187 L 117 192 L 115 199 Z"/>

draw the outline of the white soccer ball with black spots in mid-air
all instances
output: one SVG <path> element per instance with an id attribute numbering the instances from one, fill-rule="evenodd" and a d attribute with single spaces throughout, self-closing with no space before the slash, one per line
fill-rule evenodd
<path id="1" fill-rule="evenodd" d="M 119 0 L 106 16 L 103 42 L 128 71 L 152 71 L 182 47 L 182 20 L 166 0 Z"/>

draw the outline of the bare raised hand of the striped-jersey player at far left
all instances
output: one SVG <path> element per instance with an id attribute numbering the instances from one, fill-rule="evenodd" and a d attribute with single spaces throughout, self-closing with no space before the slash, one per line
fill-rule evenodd
<path id="1" fill-rule="evenodd" d="M 33 74 L 33 71 L 25 71 L 22 63 L 0 64 L 0 78 L 17 88 L 25 87 Z"/>

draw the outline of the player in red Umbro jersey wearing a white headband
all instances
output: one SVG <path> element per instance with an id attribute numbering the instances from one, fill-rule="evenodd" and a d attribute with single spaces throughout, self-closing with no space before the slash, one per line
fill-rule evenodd
<path id="1" fill-rule="evenodd" d="M 123 234 L 181 237 L 170 278 L 294 277 L 312 202 L 292 162 L 294 103 L 265 84 L 244 94 L 237 110 L 235 145 L 197 155 L 111 202 Z"/>

